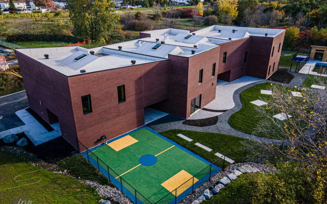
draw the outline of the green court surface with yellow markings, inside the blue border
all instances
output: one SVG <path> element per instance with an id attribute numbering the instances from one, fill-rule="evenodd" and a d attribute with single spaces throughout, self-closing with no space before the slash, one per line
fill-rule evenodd
<path id="1" fill-rule="evenodd" d="M 208 166 L 208 163 L 201 161 L 146 128 L 141 128 L 128 135 L 117 139 L 116 142 L 108 141 L 108 145 L 101 146 L 93 153 L 151 203 L 155 203 L 168 195 L 171 190 L 176 189 Z M 128 144 L 123 141 L 126 137 Z M 121 149 L 116 151 L 115 147 Z M 143 165 L 142 162 L 140 164 L 139 158 L 148 154 L 156 156 L 157 162 L 149 166 Z M 96 160 L 94 155 L 89 155 Z M 101 162 L 99 164 L 107 169 L 106 165 Z M 207 169 L 195 176 L 194 183 L 209 173 L 210 170 Z M 110 173 L 119 180 L 117 174 Z M 174 175 L 176 176 L 172 178 Z M 182 178 L 183 176 L 184 178 Z M 190 182 L 177 191 L 177 196 L 192 186 L 193 181 L 190 180 Z M 125 185 L 124 182 L 123 185 Z M 165 198 L 167 203 L 175 198 L 175 193 Z"/>

